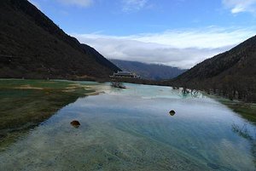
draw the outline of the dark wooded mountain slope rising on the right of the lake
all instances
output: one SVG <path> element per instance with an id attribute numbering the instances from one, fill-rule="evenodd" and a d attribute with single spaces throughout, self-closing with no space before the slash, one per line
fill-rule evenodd
<path id="1" fill-rule="evenodd" d="M 256 101 L 256 36 L 201 62 L 171 84 L 212 89 L 230 98 Z"/>

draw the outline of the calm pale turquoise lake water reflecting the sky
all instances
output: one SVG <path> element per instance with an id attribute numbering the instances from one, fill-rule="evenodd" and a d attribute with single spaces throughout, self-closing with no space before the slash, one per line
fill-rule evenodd
<path id="1" fill-rule="evenodd" d="M 125 85 L 97 85 L 104 94 L 80 98 L 20 136 L 0 152 L 0 170 L 255 170 L 256 127 L 226 106 Z"/>

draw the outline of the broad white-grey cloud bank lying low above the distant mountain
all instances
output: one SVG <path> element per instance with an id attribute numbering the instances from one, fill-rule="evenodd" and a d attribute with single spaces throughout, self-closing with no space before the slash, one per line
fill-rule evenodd
<path id="1" fill-rule="evenodd" d="M 253 29 L 166 31 L 115 37 L 73 34 L 81 43 L 96 48 L 108 59 L 135 60 L 189 68 L 253 36 Z"/>

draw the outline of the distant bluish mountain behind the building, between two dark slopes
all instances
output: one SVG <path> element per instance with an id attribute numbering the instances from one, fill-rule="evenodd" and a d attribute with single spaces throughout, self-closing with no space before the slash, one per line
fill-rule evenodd
<path id="1" fill-rule="evenodd" d="M 182 74 L 186 70 L 172 66 L 163 66 L 157 64 L 146 64 L 137 61 L 110 60 L 123 71 L 133 71 L 137 75 L 149 80 L 171 79 Z"/>

